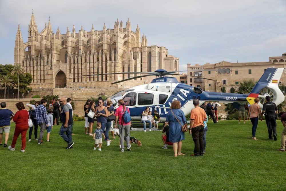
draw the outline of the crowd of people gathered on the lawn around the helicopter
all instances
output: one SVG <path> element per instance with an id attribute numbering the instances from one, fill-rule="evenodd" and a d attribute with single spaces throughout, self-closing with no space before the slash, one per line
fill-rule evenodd
<path id="1" fill-rule="evenodd" d="M 239 103 L 239 123 L 243 117 L 245 123 L 245 110 L 247 110 L 247 120 L 251 120 L 252 123 L 252 139 L 256 138 L 256 130 L 259 119 L 263 120 L 265 115 L 265 121 L 268 129 L 269 139 L 277 141 L 276 131 L 276 119 L 278 115 L 278 109 L 275 103 L 271 102 L 271 98 L 267 96 L 266 103 L 263 104 L 263 108 L 259 106 L 259 99 L 256 98 L 255 103 L 247 106 L 245 103 Z M 73 133 L 73 109 L 71 105 L 72 100 L 70 98 L 65 99 L 53 99 L 53 101 L 47 105 L 47 100 L 42 99 L 36 101 L 35 105 L 26 104 L 30 108 L 28 111 L 25 109 L 24 104 L 19 102 L 16 107 L 19 111 L 15 114 L 6 108 L 6 103 L 1 102 L 0 109 L 0 145 L 3 145 L 3 133 L 5 133 L 4 147 L 8 147 L 9 150 L 15 151 L 15 144 L 17 138 L 21 134 L 21 152 L 25 152 L 26 147 L 26 133 L 29 129 L 29 142 L 32 140 L 32 134 L 34 130 L 34 139 L 39 145 L 43 144 L 43 135 L 45 130 L 47 131 L 47 142 L 51 142 L 50 134 L 53 129 L 53 125 L 59 125 L 59 121 L 62 123 L 59 135 L 67 143 L 66 149 L 73 148 L 74 142 L 72 136 Z M 218 122 L 217 107 L 219 106 L 216 102 L 204 103 L 199 105 L 198 99 L 193 100 L 194 109 L 190 113 L 190 128 L 189 133 L 192 135 L 194 141 L 194 153 L 191 156 L 202 156 L 206 149 L 206 132 L 208 131 L 207 123 L 208 117 L 210 116 L 213 123 Z M 93 100 L 88 99 L 84 104 L 84 117 L 85 117 L 85 134 L 93 136 L 95 141 L 94 150 L 102 150 L 103 138 L 106 142 L 106 146 L 111 143 L 110 133 L 112 138 L 115 135 L 120 137 L 120 150 L 124 152 L 124 141 L 126 141 L 127 151 L 131 150 L 130 145 L 130 127 L 131 118 L 130 110 L 126 107 L 124 101 L 118 100 L 118 108 L 114 112 L 112 101 L 108 98 L 105 101 L 100 97 L 98 102 L 95 103 Z M 185 155 L 182 153 L 182 141 L 185 139 L 185 132 L 183 131 L 184 124 L 187 123 L 186 117 L 181 108 L 180 101 L 173 101 L 170 106 L 170 111 L 166 116 L 166 122 L 162 128 L 162 141 L 164 146 L 162 149 L 168 149 L 168 145 L 172 145 L 174 151 L 174 157 L 178 155 Z M 262 111 L 261 111 L 262 110 Z M 128 115 L 127 115 L 128 114 Z M 127 116 L 127 118 L 126 118 Z M 281 136 L 281 148 L 279 151 L 285 151 L 285 139 L 286 139 L 286 113 L 279 113 L 279 117 L 284 126 Z M 9 133 L 10 133 L 10 121 L 13 119 L 15 122 L 15 132 L 13 140 L 10 146 L 7 145 Z M 30 126 L 28 121 L 31 120 L 33 125 Z M 93 132 L 93 126 L 96 121 L 96 129 Z M 146 107 L 142 111 L 142 123 L 144 132 L 146 132 L 146 124 L 149 125 L 149 131 L 153 128 L 158 131 L 158 123 L 160 122 L 160 115 L 154 110 L 154 115 L 149 111 L 149 107 Z M 119 124 L 118 124 L 119 123 Z M 38 136 L 39 127 L 39 136 Z"/>

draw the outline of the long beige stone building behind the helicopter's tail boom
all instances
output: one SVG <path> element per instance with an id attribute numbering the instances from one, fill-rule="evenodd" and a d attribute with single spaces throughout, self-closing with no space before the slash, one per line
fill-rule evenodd
<path id="1" fill-rule="evenodd" d="M 191 86 L 205 91 L 221 92 L 225 87 L 227 92 L 233 87 L 238 88 L 243 79 L 254 79 L 257 82 L 267 68 L 286 68 L 286 53 L 282 56 L 269 57 L 267 62 L 237 62 L 221 61 L 219 63 L 204 65 L 187 64 L 188 83 Z M 195 71 L 191 71 L 195 70 Z M 213 80 L 202 79 L 208 78 Z M 286 84 L 286 70 L 280 78 L 279 84 Z"/>

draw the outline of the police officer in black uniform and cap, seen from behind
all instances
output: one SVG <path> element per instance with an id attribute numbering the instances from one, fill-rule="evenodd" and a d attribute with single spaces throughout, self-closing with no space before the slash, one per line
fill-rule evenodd
<path id="1" fill-rule="evenodd" d="M 278 108 L 275 103 L 271 102 L 271 98 L 269 96 L 266 96 L 265 99 L 266 103 L 263 104 L 262 113 L 264 113 L 265 115 L 265 121 L 268 129 L 268 137 L 269 139 L 274 138 L 274 141 L 277 141 L 276 115 L 278 114 Z"/>

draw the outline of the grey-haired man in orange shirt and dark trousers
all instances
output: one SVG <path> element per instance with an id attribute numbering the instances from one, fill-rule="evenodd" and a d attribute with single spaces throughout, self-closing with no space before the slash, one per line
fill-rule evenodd
<path id="1" fill-rule="evenodd" d="M 193 137 L 195 144 L 194 154 L 191 156 L 204 155 L 204 121 L 206 121 L 206 112 L 200 108 L 200 101 L 194 99 L 193 104 L 195 106 L 190 115 L 190 130 L 189 133 Z"/>

